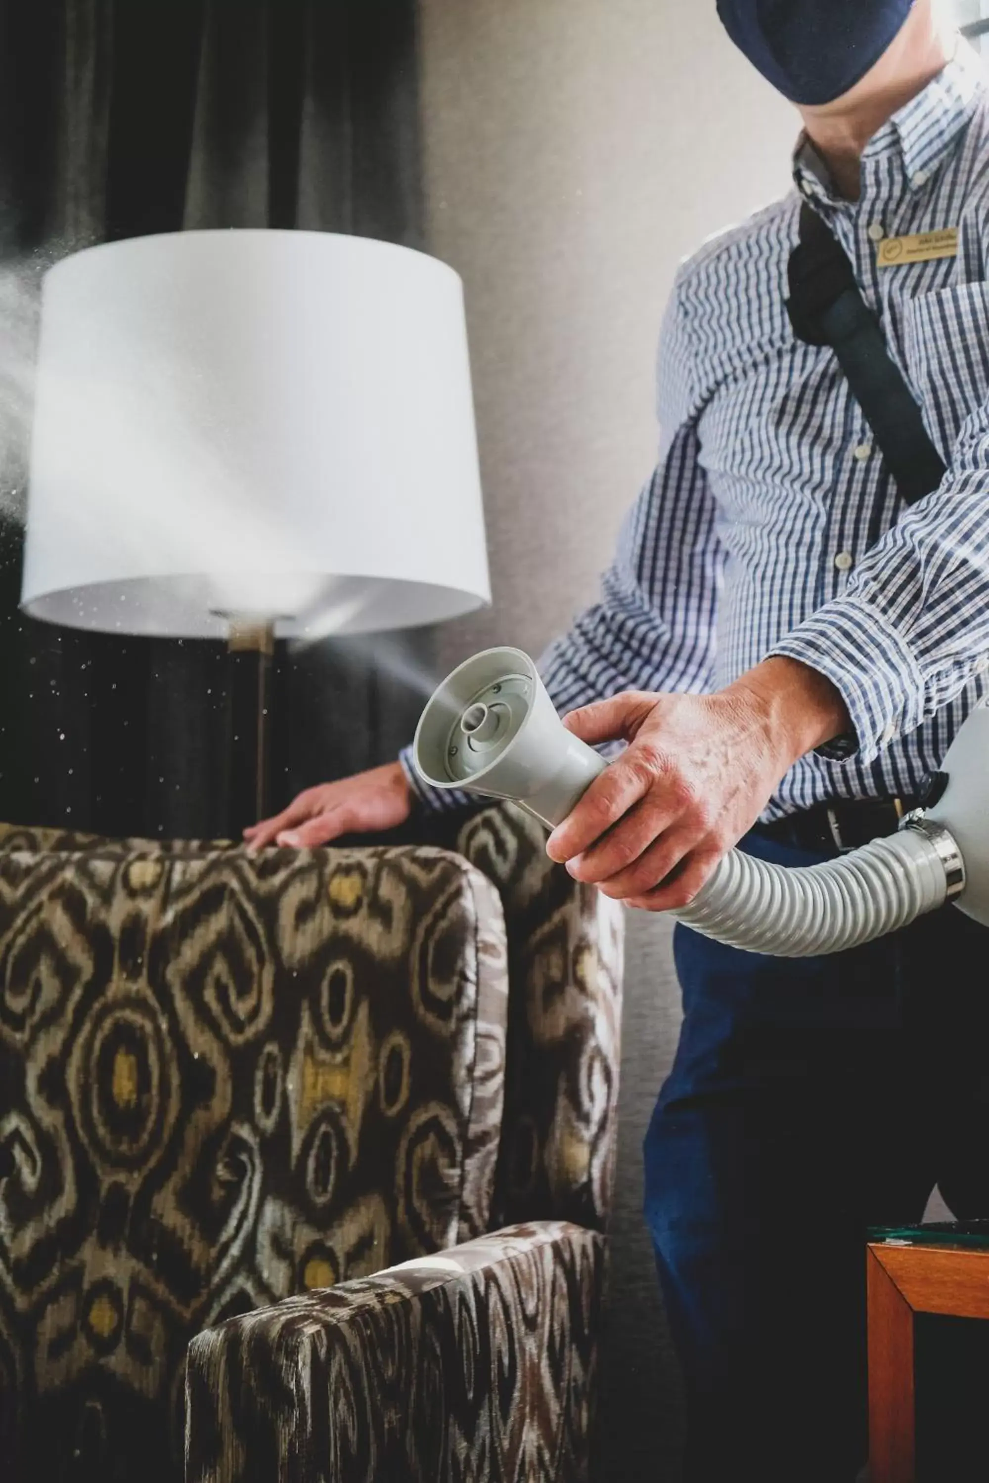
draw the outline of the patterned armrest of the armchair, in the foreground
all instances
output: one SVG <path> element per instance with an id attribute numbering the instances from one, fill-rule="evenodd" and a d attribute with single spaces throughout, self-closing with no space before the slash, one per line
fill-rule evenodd
<path id="1" fill-rule="evenodd" d="M 513 1226 L 205 1330 L 187 1483 L 586 1483 L 603 1259 Z"/>

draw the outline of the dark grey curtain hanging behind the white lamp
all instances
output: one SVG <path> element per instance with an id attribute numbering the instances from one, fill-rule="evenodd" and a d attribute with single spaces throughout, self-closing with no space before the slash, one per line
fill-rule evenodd
<path id="1" fill-rule="evenodd" d="M 0 819 L 231 823 L 222 645 L 18 611 L 36 291 L 89 243 L 298 227 L 420 243 L 414 0 L 0 0 Z M 394 755 L 420 697 L 384 645 L 280 647 L 273 804 Z M 246 820 L 239 820 L 246 822 Z"/>

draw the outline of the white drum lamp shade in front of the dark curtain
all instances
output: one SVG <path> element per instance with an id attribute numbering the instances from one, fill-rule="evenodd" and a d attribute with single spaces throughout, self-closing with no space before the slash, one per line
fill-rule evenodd
<path id="1" fill-rule="evenodd" d="M 282 635 L 489 601 L 458 276 L 316 231 L 89 248 L 44 280 L 22 605 Z"/>

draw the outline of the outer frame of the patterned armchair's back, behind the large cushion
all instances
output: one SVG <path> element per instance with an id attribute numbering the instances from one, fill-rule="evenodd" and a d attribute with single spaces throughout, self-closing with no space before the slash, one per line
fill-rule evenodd
<path id="1" fill-rule="evenodd" d="M 512 804 L 434 830 L 498 891 L 512 994 L 494 1228 L 563 1219 L 606 1229 L 617 1154 L 624 914 L 546 854 Z M 0 850 L 105 848 L 92 835 L 0 825 Z M 237 851 L 225 842 L 120 841 L 117 848 Z"/>

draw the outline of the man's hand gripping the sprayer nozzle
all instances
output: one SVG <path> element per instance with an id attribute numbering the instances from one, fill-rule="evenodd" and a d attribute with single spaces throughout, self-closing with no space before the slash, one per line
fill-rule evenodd
<path id="1" fill-rule="evenodd" d="M 565 725 L 629 747 L 550 835 L 550 857 L 605 896 L 666 912 L 697 896 L 793 762 L 850 722 L 823 675 L 770 658 L 713 696 L 632 691 Z"/>

